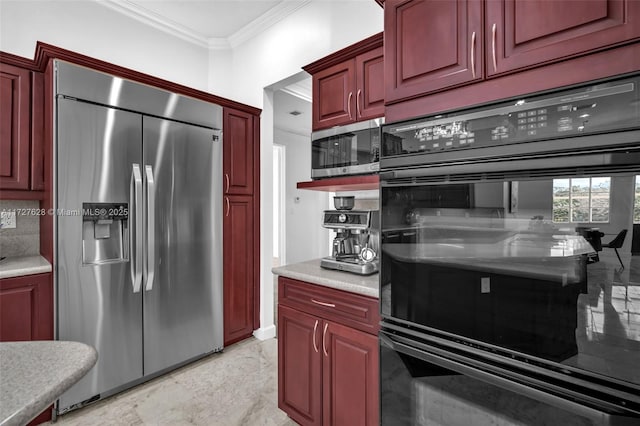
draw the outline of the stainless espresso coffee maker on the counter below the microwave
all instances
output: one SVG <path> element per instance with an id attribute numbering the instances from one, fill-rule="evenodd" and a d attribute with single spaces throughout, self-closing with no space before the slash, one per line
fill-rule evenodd
<path id="1" fill-rule="evenodd" d="M 351 207 L 324 212 L 322 226 L 332 229 L 336 236 L 332 255 L 323 258 L 320 266 L 358 275 L 375 274 L 379 265 L 378 211 L 350 210 Z"/>

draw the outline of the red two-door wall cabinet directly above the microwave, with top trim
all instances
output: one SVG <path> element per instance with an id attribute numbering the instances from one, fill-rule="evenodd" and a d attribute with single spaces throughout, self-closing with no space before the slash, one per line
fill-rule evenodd
<path id="1" fill-rule="evenodd" d="M 313 130 L 384 115 L 382 33 L 303 67 L 312 75 Z"/>

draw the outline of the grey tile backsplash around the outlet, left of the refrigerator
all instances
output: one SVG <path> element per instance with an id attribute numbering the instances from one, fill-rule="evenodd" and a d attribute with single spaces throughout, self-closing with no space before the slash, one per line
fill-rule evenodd
<path id="1" fill-rule="evenodd" d="M 16 211 L 15 229 L 0 228 L 0 256 L 30 256 L 40 254 L 40 216 L 37 200 L 0 200 L 0 211 Z"/>

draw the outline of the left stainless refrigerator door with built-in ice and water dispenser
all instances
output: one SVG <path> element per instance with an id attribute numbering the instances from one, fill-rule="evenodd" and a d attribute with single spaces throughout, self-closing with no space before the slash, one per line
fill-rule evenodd
<path id="1" fill-rule="evenodd" d="M 132 166 L 142 159 L 142 116 L 61 97 L 57 115 L 57 336 L 98 351 L 93 369 L 60 397 L 62 412 L 142 376 L 142 293 L 133 290 L 129 249 L 135 243 L 129 240 L 133 216 L 121 215 L 115 226 L 108 220 L 83 221 L 82 214 L 83 203 L 126 203 L 131 210 Z M 97 247 L 91 259 L 85 253 L 84 264 L 83 223 L 85 248 Z M 102 250 L 115 238 L 123 239 L 120 252 Z"/>

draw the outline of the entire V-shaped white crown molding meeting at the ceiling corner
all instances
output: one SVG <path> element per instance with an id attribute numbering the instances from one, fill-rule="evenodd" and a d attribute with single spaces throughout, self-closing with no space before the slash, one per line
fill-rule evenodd
<path id="1" fill-rule="evenodd" d="M 311 3 L 312 0 L 283 0 L 269 9 L 263 15 L 249 22 L 229 37 L 207 38 L 204 35 L 192 31 L 184 25 L 173 22 L 144 7 L 140 7 L 129 0 L 94 0 L 96 3 L 108 7 L 122 15 L 142 22 L 145 25 L 156 28 L 174 37 L 178 37 L 199 47 L 211 50 L 233 49 L 247 40 L 257 36 L 269 27 L 291 15 L 296 10 Z"/>

